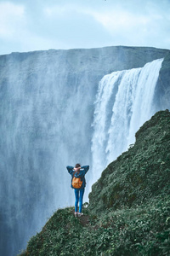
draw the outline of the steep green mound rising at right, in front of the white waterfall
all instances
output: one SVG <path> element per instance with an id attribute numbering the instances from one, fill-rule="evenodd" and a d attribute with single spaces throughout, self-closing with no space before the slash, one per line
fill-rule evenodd
<path id="1" fill-rule="evenodd" d="M 89 211 L 133 207 L 170 193 L 170 113 L 161 111 L 136 133 L 136 143 L 94 183 Z"/>

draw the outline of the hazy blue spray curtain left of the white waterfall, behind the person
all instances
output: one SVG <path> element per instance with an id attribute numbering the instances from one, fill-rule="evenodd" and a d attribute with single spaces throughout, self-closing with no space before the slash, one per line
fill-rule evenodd
<path id="1" fill-rule="evenodd" d="M 67 59 L 59 54 L 54 61 L 48 52 L 38 57 L 34 53 L 19 55 L 19 61 L 11 61 L 9 56 L 0 69 L 3 256 L 25 249 L 31 236 L 42 230 L 59 207 L 74 205 L 66 166 L 77 162 L 90 165 L 96 89 L 87 83 L 87 73 L 82 79 L 82 73 L 73 73 L 67 63 L 61 69 L 60 63 Z M 87 179 L 89 176 L 90 171 Z"/>

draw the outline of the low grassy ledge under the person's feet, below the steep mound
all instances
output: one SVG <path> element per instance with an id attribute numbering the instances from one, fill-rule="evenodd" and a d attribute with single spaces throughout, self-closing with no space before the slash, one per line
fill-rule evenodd
<path id="1" fill-rule="evenodd" d="M 169 255 L 170 197 L 157 197 L 135 208 L 100 217 L 75 218 L 73 208 L 59 209 L 29 241 L 22 255 Z"/>

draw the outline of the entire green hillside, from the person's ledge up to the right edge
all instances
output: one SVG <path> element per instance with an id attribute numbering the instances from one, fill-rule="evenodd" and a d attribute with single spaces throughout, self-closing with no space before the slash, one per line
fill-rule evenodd
<path id="1" fill-rule="evenodd" d="M 59 209 L 22 255 L 169 255 L 170 113 L 156 113 L 136 143 L 94 183 L 85 215 Z"/>

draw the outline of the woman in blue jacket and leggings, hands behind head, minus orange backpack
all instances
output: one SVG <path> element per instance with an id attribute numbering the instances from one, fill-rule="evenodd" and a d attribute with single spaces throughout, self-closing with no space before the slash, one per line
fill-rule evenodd
<path id="1" fill-rule="evenodd" d="M 84 195 L 84 189 L 86 186 L 86 180 L 85 180 L 85 174 L 88 172 L 89 166 L 81 166 L 80 164 L 77 164 L 75 167 L 73 166 L 66 166 L 68 172 L 71 174 L 71 188 L 75 190 L 75 217 L 80 217 L 83 215 L 82 213 L 82 198 Z M 79 189 L 75 189 L 72 184 L 73 177 L 79 178 L 81 184 L 81 187 Z M 79 212 L 77 211 L 79 202 Z"/>

